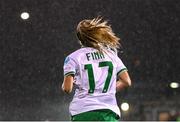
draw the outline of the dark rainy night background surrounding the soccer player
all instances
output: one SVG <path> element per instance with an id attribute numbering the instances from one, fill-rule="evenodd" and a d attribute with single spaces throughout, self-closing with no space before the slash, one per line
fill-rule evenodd
<path id="1" fill-rule="evenodd" d="M 20 14 L 29 12 L 22 20 Z M 69 120 L 64 58 L 80 46 L 79 21 L 103 16 L 121 38 L 133 86 L 117 93 L 121 120 L 179 114 L 179 0 L 0 0 L 0 120 Z"/>

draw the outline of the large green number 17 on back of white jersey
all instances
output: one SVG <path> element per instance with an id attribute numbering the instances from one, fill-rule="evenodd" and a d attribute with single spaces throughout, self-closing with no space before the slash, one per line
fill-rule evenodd
<path id="1" fill-rule="evenodd" d="M 110 61 L 104 61 L 104 62 L 99 62 L 99 67 L 106 67 L 108 66 L 108 74 L 106 77 L 106 81 L 104 84 L 104 88 L 103 88 L 103 93 L 106 93 L 108 91 L 109 88 L 109 84 L 111 81 L 111 77 L 112 77 L 112 72 L 113 72 L 113 64 Z M 94 89 L 95 89 L 95 80 L 94 80 L 94 73 L 93 73 L 93 67 L 92 64 L 86 64 L 85 65 L 85 69 L 88 72 L 88 79 L 89 79 L 89 93 L 94 93 Z"/>

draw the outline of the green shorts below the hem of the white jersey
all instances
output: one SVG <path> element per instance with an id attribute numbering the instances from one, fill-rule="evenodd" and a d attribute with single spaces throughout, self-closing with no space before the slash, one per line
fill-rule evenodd
<path id="1" fill-rule="evenodd" d="M 93 110 L 71 117 L 71 121 L 118 121 L 119 116 L 109 109 Z"/>

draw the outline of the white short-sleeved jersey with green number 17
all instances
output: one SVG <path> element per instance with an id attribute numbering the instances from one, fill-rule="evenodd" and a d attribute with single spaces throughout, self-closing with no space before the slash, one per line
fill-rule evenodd
<path id="1" fill-rule="evenodd" d="M 117 53 L 106 49 L 100 53 L 90 47 L 81 48 L 66 57 L 64 75 L 73 74 L 77 86 L 70 103 L 70 114 L 110 109 L 120 116 L 116 102 L 117 75 L 126 70 Z"/>

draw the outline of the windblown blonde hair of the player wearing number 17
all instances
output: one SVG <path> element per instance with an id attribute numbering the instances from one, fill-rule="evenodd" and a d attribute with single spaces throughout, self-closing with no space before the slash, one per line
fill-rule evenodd
<path id="1" fill-rule="evenodd" d="M 103 21 L 102 17 L 92 20 L 82 20 L 77 26 L 77 37 L 80 44 L 85 47 L 93 47 L 102 51 L 102 46 L 111 48 L 119 48 L 118 38 L 107 21 Z"/>

